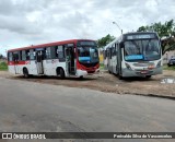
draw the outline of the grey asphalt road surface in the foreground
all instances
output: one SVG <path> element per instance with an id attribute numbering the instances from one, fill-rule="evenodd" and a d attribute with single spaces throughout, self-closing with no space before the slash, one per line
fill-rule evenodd
<path id="1" fill-rule="evenodd" d="M 175 103 L 0 78 L 0 131 L 175 132 Z"/>

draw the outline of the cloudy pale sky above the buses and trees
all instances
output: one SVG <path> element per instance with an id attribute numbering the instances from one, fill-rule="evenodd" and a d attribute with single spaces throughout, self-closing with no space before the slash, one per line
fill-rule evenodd
<path id="1" fill-rule="evenodd" d="M 0 54 L 66 39 L 117 37 L 120 29 L 175 20 L 174 13 L 175 0 L 0 0 Z"/>

